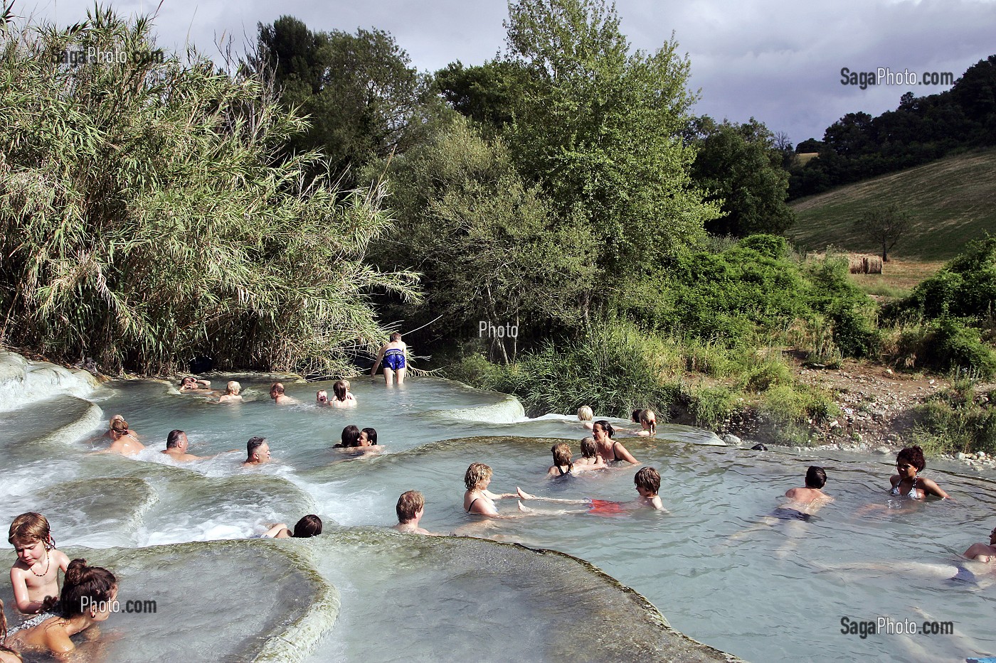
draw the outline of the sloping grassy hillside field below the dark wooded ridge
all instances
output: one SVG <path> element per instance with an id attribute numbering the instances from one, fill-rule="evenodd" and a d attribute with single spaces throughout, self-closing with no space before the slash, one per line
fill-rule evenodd
<path id="1" fill-rule="evenodd" d="M 996 149 L 978 150 L 800 198 L 792 205 L 799 220 L 788 236 L 814 251 L 833 244 L 846 251 L 876 253 L 880 249 L 852 225 L 868 207 L 895 203 L 909 212 L 913 228 L 891 255 L 947 260 L 984 231 L 996 234 L 994 201 Z"/>

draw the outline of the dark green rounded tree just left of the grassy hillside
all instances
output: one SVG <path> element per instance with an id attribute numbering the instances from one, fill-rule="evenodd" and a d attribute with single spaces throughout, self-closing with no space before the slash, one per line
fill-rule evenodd
<path id="1" fill-rule="evenodd" d="M 795 214 L 785 203 L 789 173 L 774 134 L 753 117 L 743 124 L 717 124 L 706 115 L 693 122 L 693 129 L 698 154 L 692 178 L 724 213 L 706 223 L 706 230 L 735 237 L 785 232 Z"/>

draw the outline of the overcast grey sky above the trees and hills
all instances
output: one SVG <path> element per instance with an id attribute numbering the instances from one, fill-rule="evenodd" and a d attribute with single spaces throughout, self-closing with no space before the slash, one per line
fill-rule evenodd
<path id="1" fill-rule="evenodd" d="M 148 13 L 157 2 L 112 2 L 124 15 Z M 61 25 L 86 17 L 93 0 L 20 0 L 16 13 L 34 12 Z M 823 137 L 846 112 L 894 109 L 908 91 L 917 96 L 950 86 L 841 84 L 841 69 L 875 72 L 951 72 L 996 54 L 996 0 L 618 0 L 622 31 L 634 48 L 656 49 L 671 33 L 691 60 L 696 113 L 744 121 L 751 116 L 793 143 Z M 159 46 L 189 38 L 215 55 L 215 37 L 255 37 L 259 22 L 289 14 L 312 30 L 358 27 L 390 32 L 420 70 L 459 60 L 480 64 L 504 47 L 502 0 L 163 0 L 155 20 Z"/>

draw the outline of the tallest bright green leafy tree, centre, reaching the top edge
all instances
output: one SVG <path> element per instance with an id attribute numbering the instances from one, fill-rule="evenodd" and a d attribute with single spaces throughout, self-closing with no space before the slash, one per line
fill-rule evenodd
<path id="1" fill-rule="evenodd" d="M 702 235 L 718 206 L 689 178 L 682 142 L 693 96 L 688 62 L 669 41 L 630 52 L 615 7 L 603 0 L 510 3 L 506 59 L 533 85 L 505 136 L 520 172 L 562 215 L 577 210 L 601 243 L 598 297 L 626 275 L 658 269 Z"/>

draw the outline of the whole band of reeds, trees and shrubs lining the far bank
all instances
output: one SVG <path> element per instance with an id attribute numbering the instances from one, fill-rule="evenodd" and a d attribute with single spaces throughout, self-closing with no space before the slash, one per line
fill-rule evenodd
<path id="1" fill-rule="evenodd" d="M 4 25 L 4 343 L 339 375 L 399 328 L 418 367 L 530 413 L 793 443 L 839 414 L 800 361 L 996 372 L 996 240 L 881 307 L 845 255 L 781 236 L 785 137 L 693 115 L 678 44 L 633 50 L 603 0 L 512 2 L 503 53 L 435 74 L 385 32 L 293 17 L 222 68 L 152 57 L 148 21 L 111 10 Z M 55 57 L 87 46 L 138 57 Z M 930 403 L 921 434 L 960 417 L 983 432 L 937 448 L 988 444 L 977 400 Z"/>

